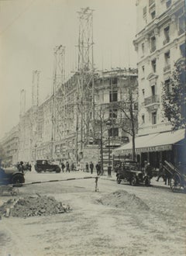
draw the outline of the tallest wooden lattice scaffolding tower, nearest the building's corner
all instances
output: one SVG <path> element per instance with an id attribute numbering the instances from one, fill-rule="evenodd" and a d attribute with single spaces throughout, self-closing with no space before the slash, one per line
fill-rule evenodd
<path id="1" fill-rule="evenodd" d="M 89 143 L 90 123 L 95 133 L 93 10 L 81 9 L 78 14 L 77 144 L 80 143 L 82 154 L 84 145 Z"/>

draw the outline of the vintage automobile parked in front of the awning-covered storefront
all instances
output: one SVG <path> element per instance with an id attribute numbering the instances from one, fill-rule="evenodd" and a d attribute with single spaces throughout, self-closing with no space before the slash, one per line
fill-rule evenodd
<path id="1" fill-rule="evenodd" d="M 136 161 L 120 161 L 115 166 L 116 182 L 120 184 L 123 181 L 129 182 L 130 185 L 138 185 L 140 183 L 149 186 L 150 177 L 145 176 Z"/>

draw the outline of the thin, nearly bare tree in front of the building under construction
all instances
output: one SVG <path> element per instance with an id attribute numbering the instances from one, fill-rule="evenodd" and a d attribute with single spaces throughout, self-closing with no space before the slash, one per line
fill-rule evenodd
<path id="1" fill-rule="evenodd" d="M 132 137 L 133 153 L 132 159 L 136 160 L 135 137 L 137 130 L 138 115 L 138 93 L 136 78 L 128 78 L 124 92 L 124 99 L 118 104 L 118 109 L 122 112 L 122 131 Z"/>

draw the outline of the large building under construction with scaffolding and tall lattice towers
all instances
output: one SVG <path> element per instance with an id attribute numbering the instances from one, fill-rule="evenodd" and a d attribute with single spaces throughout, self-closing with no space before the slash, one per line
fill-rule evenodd
<path id="1" fill-rule="evenodd" d="M 129 104 L 137 112 L 137 69 L 96 70 L 93 10 L 81 9 L 78 16 L 77 70 L 71 78 L 65 76 L 66 46 L 59 45 L 53 50 L 52 95 L 39 104 L 37 70 L 33 71 L 32 106 L 28 110 L 26 90 L 21 91 L 14 161 L 69 161 L 81 168 L 86 162 L 101 161 L 106 168 L 112 149 L 129 142 L 129 120 L 125 114 Z"/>

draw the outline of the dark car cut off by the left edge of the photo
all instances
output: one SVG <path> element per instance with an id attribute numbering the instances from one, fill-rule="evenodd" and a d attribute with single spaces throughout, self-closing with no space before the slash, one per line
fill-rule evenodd
<path id="1" fill-rule="evenodd" d="M 0 168 L 0 185 L 10 185 L 25 183 L 24 174 L 13 168 L 3 169 Z"/>

